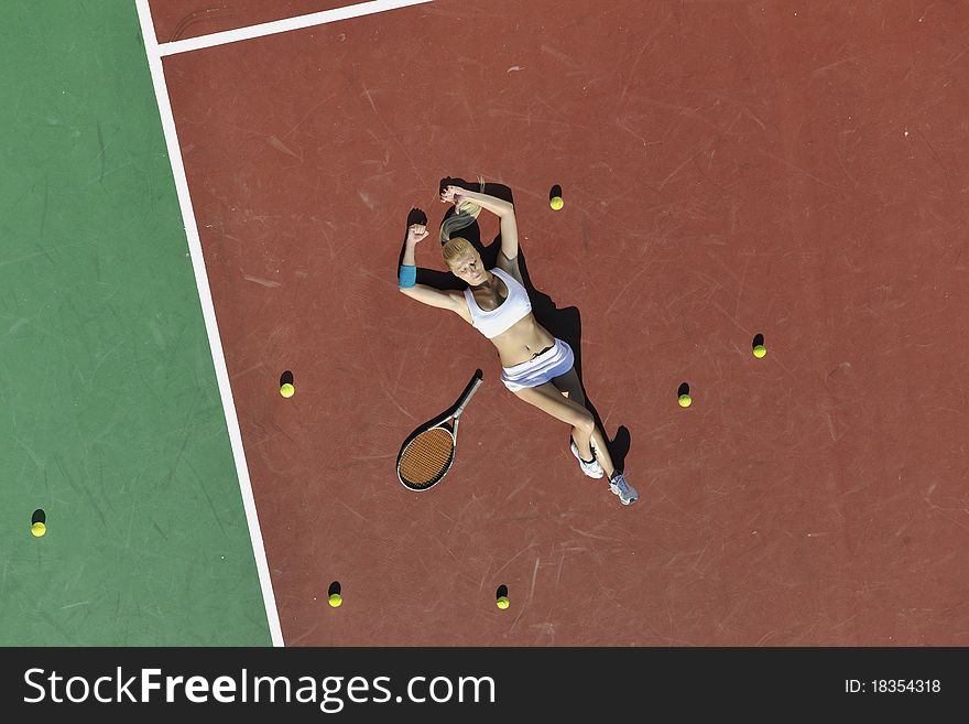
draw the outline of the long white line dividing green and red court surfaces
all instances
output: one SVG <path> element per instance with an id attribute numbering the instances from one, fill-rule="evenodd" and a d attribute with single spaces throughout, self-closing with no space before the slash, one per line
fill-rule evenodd
<path id="1" fill-rule="evenodd" d="M 249 522 L 249 537 L 252 539 L 252 552 L 255 554 L 255 568 L 259 571 L 259 583 L 262 587 L 262 599 L 265 604 L 265 616 L 269 620 L 269 630 L 272 635 L 273 646 L 283 646 L 283 631 L 280 627 L 280 614 L 276 610 L 276 599 L 273 595 L 272 581 L 269 575 L 265 547 L 262 542 L 262 531 L 259 529 L 259 517 L 255 512 L 255 499 L 252 497 L 252 484 L 249 479 L 249 468 L 246 465 L 246 454 L 242 450 L 242 433 L 239 430 L 239 419 L 236 415 L 236 402 L 232 399 L 232 389 L 229 385 L 229 371 L 226 368 L 226 358 L 222 354 L 219 327 L 216 323 L 216 311 L 213 305 L 211 290 L 208 285 L 208 274 L 205 271 L 205 259 L 202 256 L 202 242 L 198 239 L 198 227 L 195 224 L 195 213 L 192 209 L 192 198 L 188 195 L 188 179 L 185 176 L 185 165 L 182 162 L 182 150 L 178 145 L 178 137 L 175 132 L 175 119 L 172 116 L 172 104 L 168 99 L 168 89 L 165 86 L 165 72 L 162 67 L 162 54 L 159 52 L 159 44 L 155 39 L 154 24 L 152 23 L 151 9 L 149 8 L 148 1 L 149 0 L 135 0 L 138 15 L 141 20 L 141 34 L 144 39 L 144 51 L 148 55 L 152 83 L 155 87 L 155 98 L 159 102 L 159 114 L 162 117 L 162 129 L 165 132 L 165 143 L 168 147 L 168 160 L 172 162 L 172 173 L 175 177 L 175 190 L 178 192 L 178 205 L 182 207 L 182 220 L 185 224 L 185 234 L 188 237 L 188 250 L 192 253 L 192 266 L 195 269 L 195 282 L 198 287 L 198 298 L 202 302 L 202 314 L 205 317 L 205 328 L 208 332 L 208 343 L 211 347 L 213 361 L 215 363 L 216 379 L 219 382 L 219 393 L 222 398 L 222 410 L 226 413 L 229 440 L 232 443 L 232 456 L 236 458 L 236 472 L 239 475 L 239 487 L 242 490 L 242 506 L 246 509 L 246 519 Z"/>

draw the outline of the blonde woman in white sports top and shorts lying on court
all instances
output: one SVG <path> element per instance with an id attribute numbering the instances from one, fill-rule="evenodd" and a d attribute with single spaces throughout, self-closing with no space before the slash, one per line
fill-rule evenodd
<path id="1" fill-rule="evenodd" d="M 622 504 L 635 503 L 639 495 L 616 469 L 606 439 L 586 409 L 571 348 L 553 337 L 532 314 L 519 270 L 514 206 L 458 186 L 446 186 L 440 201 L 453 203 L 457 212 L 442 225 L 444 260 L 469 288 L 464 292 L 442 291 L 415 282 L 414 249 L 427 237 L 427 229 L 422 224 L 413 224 L 407 229 L 400 269 L 401 292 L 424 304 L 455 312 L 491 339 L 498 348 L 504 386 L 519 399 L 571 425 L 569 446 L 583 472 L 595 478 L 608 475 L 609 486 Z M 490 270 L 484 269 L 481 255 L 467 239 L 449 238 L 456 229 L 473 223 L 482 208 L 496 214 L 501 227 L 498 266 Z"/>

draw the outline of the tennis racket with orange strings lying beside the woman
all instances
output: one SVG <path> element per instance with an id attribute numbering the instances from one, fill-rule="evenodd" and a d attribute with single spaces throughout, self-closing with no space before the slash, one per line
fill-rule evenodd
<path id="1" fill-rule="evenodd" d="M 458 422 L 465 407 L 481 386 L 481 370 L 476 370 L 457 404 L 451 408 L 453 412 L 424 423 L 404 441 L 398 455 L 398 478 L 405 488 L 427 490 L 447 475 L 454 463 Z"/>

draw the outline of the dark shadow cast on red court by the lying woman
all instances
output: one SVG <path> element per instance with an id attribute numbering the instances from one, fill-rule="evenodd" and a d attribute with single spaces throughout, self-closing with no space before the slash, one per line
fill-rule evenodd
<path id="1" fill-rule="evenodd" d="M 484 188 L 481 188 L 481 185 L 477 182 L 465 181 L 464 179 L 453 179 L 445 177 L 440 180 L 440 190 L 443 191 L 445 186 L 459 186 L 461 188 L 467 188 L 468 191 L 477 191 L 490 195 L 497 196 L 498 198 L 503 198 L 504 201 L 514 203 L 514 198 L 512 197 L 511 188 L 503 184 L 494 184 L 494 183 L 486 183 Z M 483 212 L 487 213 L 487 212 Z M 444 219 L 447 219 L 455 214 L 454 205 L 448 205 L 448 209 L 444 215 Z M 442 224 L 444 224 L 444 219 Z M 427 224 L 427 215 L 420 208 L 412 208 L 411 213 L 407 215 L 407 225 L 404 228 L 404 239 L 407 236 L 407 227 L 412 224 Z M 428 229 L 429 230 L 429 229 Z M 432 241 L 432 233 L 425 241 L 422 244 L 426 244 L 427 241 Z M 501 251 L 501 234 L 494 237 L 494 239 L 487 247 L 481 242 L 481 228 L 478 225 L 478 221 L 475 220 L 470 226 L 467 226 L 458 231 L 455 231 L 453 236 L 460 236 L 468 241 L 478 250 L 478 253 L 481 255 L 481 260 L 484 263 L 486 269 L 493 269 L 498 262 L 498 255 Z M 442 245 L 446 240 L 442 240 Z M 403 246 L 403 245 L 402 245 Z M 403 248 L 401 249 L 401 260 L 403 260 Z M 588 393 L 586 393 L 586 385 L 583 379 L 583 323 L 581 323 L 581 313 L 575 306 L 566 306 L 563 309 L 558 309 L 552 298 L 540 291 L 531 280 L 529 275 L 529 266 L 525 258 L 525 250 L 522 247 L 521 242 L 519 244 L 519 269 L 522 272 L 522 281 L 524 282 L 525 289 L 529 292 L 529 299 L 532 301 L 532 313 L 535 315 L 535 320 L 543 327 L 548 329 L 549 334 L 554 337 L 558 337 L 559 339 L 568 343 L 568 346 L 571 347 L 573 353 L 575 354 L 575 368 L 576 374 L 579 378 L 579 383 L 583 387 L 583 393 L 586 396 L 586 408 L 589 412 L 592 413 L 592 417 L 596 419 L 596 424 L 600 430 L 606 430 L 602 424 L 602 419 L 599 415 L 596 406 L 592 403 Z M 462 291 L 467 289 L 467 284 L 455 277 L 450 272 L 437 271 L 434 269 L 423 269 L 417 268 L 417 283 L 426 284 L 428 287 L 434 287 L 435 289 L 442 290 L 458 290 Z M 612 457 L 612 463 L 616 465 L 616 469 L 622 471 L 624 469 L 625 457 L 629 454 L 629 450 L 631 446 L 631 439 L 629 434 L 629 430 L 620 425 L 616 432 L 616 437 L 613 440 L 609 440 L 608 434 L 606 435 L 606 440 L 609 443 L 609 454 Z"/>

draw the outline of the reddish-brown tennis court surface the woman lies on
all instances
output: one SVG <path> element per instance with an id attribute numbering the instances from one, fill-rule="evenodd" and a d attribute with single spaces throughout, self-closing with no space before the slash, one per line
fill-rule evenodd
<path id="1" fill-rule="evenodd" d="M 160 41 L 274 19 L 154 4 Z M 945 2 L 440 0 L 165 58 L 285 642 L 969 644 L 967 32 Z M 436 229 L 477 174 L 632 507 L 396 291 L 411 207 Z M 454 469 L 405 490 L 477 367 Z"/>

